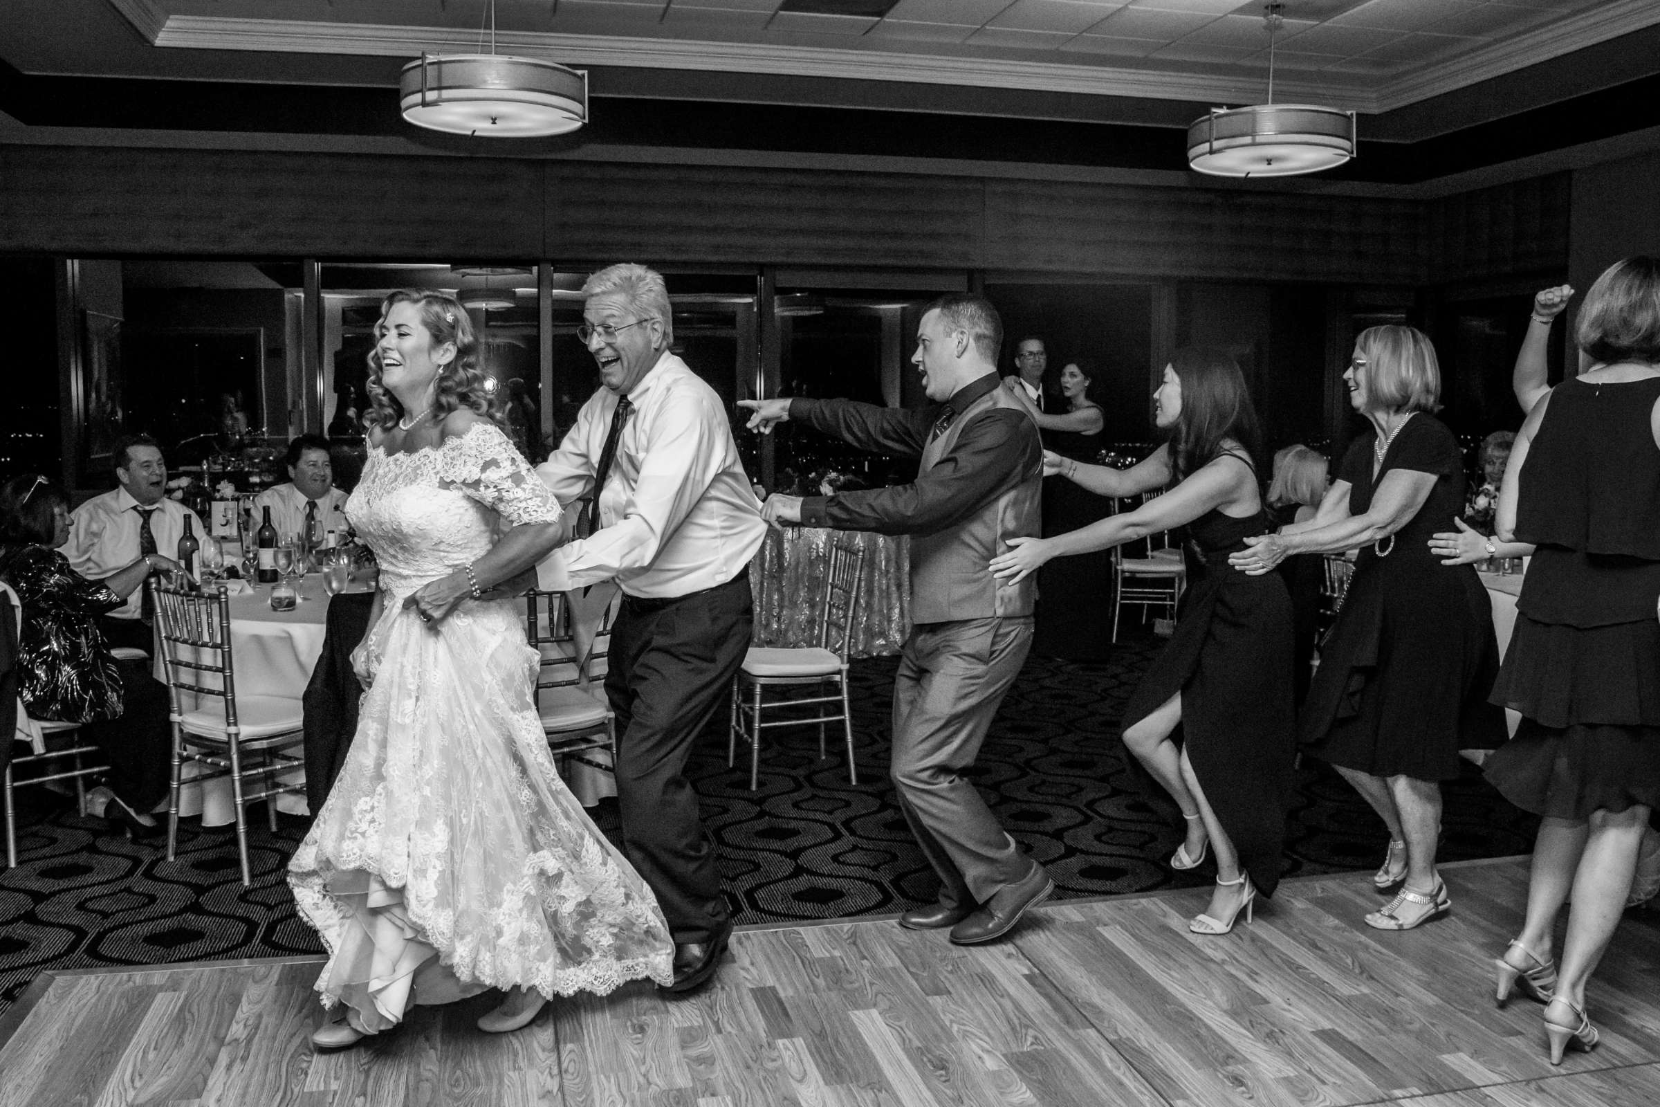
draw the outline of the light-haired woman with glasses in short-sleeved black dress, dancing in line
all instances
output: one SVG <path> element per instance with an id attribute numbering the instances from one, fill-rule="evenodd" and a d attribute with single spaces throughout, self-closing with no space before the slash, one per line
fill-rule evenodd
<path id="1" fill-rule="evenodd" d="M 1343 455 L 1311 521 L 1250 539 L 1233 564 L 1268 573 L 1288 554 L 1360 548 L 1298 730 L 1389 828 L 1373 883 L 1401 890 L 1366 924 L 1411 929 L 1451 906 L 1436 875 L 1441 782 L 1457 777 L 1461 749 L 1504 742 L 1504 712 L 1487 704 L 1499 646 L 1476 569 L 1446 569 L 1429 551 L 1429 536 L 1464 510 L 1457 440 L 1431 415 L 1434 347 L 1411 327 L 1371 327 L 1343 380 L 1371 428 Z"/>

